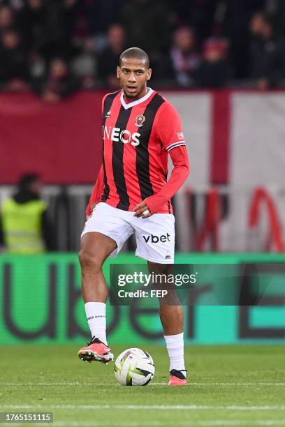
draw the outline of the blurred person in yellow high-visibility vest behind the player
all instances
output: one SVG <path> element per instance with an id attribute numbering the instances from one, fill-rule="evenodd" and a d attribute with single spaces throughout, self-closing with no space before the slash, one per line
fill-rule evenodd
<path id="1" fill-rule="evenodd" d="M 25 174 L 17 193 L 1 207 L 1 244 L 9 253 L 43 253 L 53 248 L 52 226 L 47 204 L 40 198 L 41 181 L 37 174 Z"/>

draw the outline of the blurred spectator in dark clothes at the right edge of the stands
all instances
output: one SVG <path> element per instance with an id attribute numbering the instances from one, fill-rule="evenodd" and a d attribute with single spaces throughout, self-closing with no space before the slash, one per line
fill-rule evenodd
<path id="1" fill-rule="evenodd" d="M 258 89 L 277 87 L 284 76 L 285 45 L 275 37 L 269 18 L 256 13 L 250 24 L 251 77 Z"/>

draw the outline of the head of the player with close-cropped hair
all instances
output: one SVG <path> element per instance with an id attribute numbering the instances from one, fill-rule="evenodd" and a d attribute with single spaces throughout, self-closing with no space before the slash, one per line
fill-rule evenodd
<path id="1" fill-rule="evenodd" d="M 149 68 L 149 57 L 144 50 L 139 47 L 130 47 L 122 52 L 119 57 L 117 77 L 126 98 L 141 98 L 151 76 L 152 69 Z"/>

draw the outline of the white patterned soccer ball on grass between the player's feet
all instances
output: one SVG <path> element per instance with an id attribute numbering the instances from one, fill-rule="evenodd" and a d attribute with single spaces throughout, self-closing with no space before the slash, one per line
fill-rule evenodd
<path id="1" fill-rule="evenodd" d="M 152 357 L 140 348 L 128 348 L 115 361 L 115 377 L 122 385 L 147 385 L 154 370 Z"/>

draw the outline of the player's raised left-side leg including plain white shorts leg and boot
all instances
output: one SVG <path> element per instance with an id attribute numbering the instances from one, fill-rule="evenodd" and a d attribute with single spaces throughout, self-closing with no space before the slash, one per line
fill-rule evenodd
<path id="1" fill-rule="evenodd" d="M 103 276 L 105 259 L 115 257 L 133 228 L 126 221 L 126 212 L 98 203 L 85 223 L 81 237 L 80 264 L 82 270 L 82 295 L 85 301 L 87 322 L 92 341 L 82 347 L 78 356 L 83 361 L 112 360 L 106 339 L 106 305 L 108 287 Z"/>

